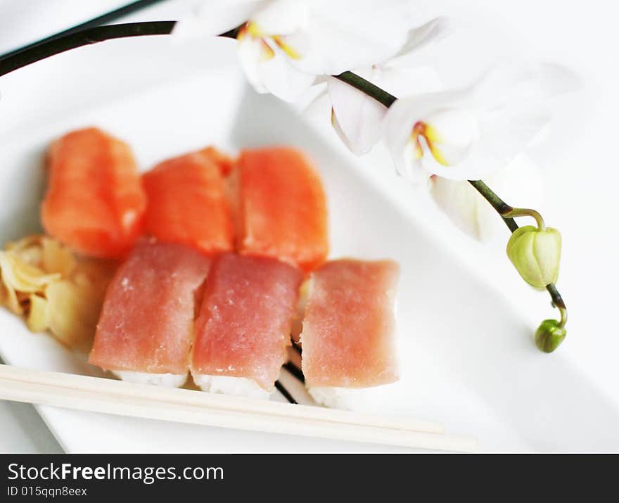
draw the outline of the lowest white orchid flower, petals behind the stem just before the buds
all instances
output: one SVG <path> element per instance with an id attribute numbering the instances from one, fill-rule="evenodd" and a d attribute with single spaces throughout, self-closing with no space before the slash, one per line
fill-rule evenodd
<path id="1" fill-rule="evenodd" d="M 526 154 L 518 155 L 485 181 L 507 200 L 525 201 L 534 208 L 542 203 L 542 174 Z M 468 182 L 432 175 L 428 186 L 440 210 L 468 236 L 490 241 L 499 231 L 505 231 L 494 208 Z"/>

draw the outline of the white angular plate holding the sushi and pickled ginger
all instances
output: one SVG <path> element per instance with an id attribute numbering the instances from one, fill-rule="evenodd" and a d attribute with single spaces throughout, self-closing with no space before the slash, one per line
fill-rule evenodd
<path id="1" fill-rule="evenodd" d="M 184 51 L 165 37 L 108 42 L 0 78 L 0 90 L 3 243 L 37 231 L 42 156 L 72 128 L 97 125 L 127 140 L 142 169 L 205 144 L 229 151 L 298 146 L 324 179 L 331 256 L 391 257 L 402 265 L 402 380 L 371 392 L 363 409 L 442 421 L 449 433 L 479 438 L 483 450 L 619 449 L 612 404 L 560 351 L 537 351 L 532 321 L 428 233 L 423 204 L 411 202 L 393 170 L 376 155 L 355 160 L 291 108 L 248 90 L 228 41 Z M 327 130 L 327 117 L 321 119 Z M 0 354 L 23 367 L 96 371 L 51 337 L 28 332 L 6 310 L 0 311 Z M 391 450 L 38 409 L 68 452 Z"/>

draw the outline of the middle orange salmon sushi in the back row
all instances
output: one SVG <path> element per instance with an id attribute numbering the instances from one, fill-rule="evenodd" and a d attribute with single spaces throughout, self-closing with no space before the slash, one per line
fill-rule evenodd
<path id="1" fill-rule="evenodd" d="M 234 250 L 234 227 L 222 176 L 230 169 L 226 159 L 207 148 L 165 160 L 143 174 L 148 234 L 206 254 Z"/>

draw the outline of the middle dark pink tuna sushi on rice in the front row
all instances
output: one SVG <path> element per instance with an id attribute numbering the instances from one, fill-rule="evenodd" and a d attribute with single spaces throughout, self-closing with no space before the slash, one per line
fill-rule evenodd
<path id="1" fill-rule="evenodd" d="M 205 391 L 268 397 L 286 361 L 302 273 L 270 257 L 215 258 L 191 356 Z"/>

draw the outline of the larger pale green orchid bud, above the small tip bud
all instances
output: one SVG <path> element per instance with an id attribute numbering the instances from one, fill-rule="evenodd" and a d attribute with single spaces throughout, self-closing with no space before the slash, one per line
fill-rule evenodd
<path id="1" fill-rule="evenodd" d="M 550 227 L 520 227 L 507 242 L 507 256 L 528 284 L 545 288 L 559 277 L 561 234 Z"/>

